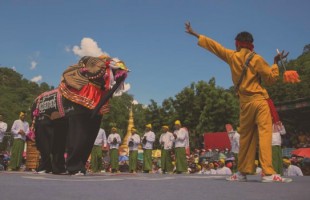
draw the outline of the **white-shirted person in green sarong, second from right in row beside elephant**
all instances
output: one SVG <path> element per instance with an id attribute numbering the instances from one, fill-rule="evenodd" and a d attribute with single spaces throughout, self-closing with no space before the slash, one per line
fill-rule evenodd
<path id="1" fill-rule="evenodd" d="M 171 150 L 173 147 L 174 136 L 169 132 L 168 126 L 162 126 L 163 133 L 160 135 L 159 144 L 161 145 L 161 169 L 162 172 L 172 173 L 173 165 L 171 158 Z"/>

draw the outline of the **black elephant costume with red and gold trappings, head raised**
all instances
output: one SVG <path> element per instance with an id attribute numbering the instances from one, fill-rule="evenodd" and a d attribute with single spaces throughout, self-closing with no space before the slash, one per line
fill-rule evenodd
<path id="1" fill-rule="evenodd" d="M 85 82 L 80 84 L 79 90 L 63 80 L 58 88 L 41 94 L 33 104 L 36 144 L 41 154 L 38 172 L 86 173 L 85 164 L 98 134 L 102 115 L 108 111 L 107 101 L 127 76 L 127 68 L 117 68 L 115 62 L 112 66 L 109 60 L 100 62 L 102 59 L 98 61 L 99 58 L 94 57 L 82 59 L 84 62 L 79 63 L 82 67 L 70 71 L 71 74 L 78 74 L 78 81 L 80 76 L 84 76 L 82 79 Z M 99 66 L 97 70 L 89 73 L 83 69 L 94 63 Z M 85 71 L 87 76 L 83 74 Z M 113 87 L 107 83 L 111 83 L 112 77 L 107 79 L 106 73 L 113 76 Z"/>

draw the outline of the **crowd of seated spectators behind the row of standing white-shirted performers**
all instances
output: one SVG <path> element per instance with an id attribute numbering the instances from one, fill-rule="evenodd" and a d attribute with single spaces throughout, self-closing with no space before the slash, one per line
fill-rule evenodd
<path id="1" fill-rule="evenodd" d="M 10 137 L 10 134 L 5 134 L 5 137 Z M 10 140 L 5 139 L 8 143 L 7 149 L 10 146 Z M 310 147 L 310 134 L 309 132 L 287 133 L 282 137 L 283 152 L 286 150 L 293 150 L 296 148 L 309 148 Z M 141 156 L 140 156 L 141 157 Z M 297 166 L 301 169 L 303 175 L 310 175 L 310 159 L 290 155 L 287 152 L 283 153 L 284 159 L 289 160 L 290 165 Z M 124 159 L 125 158 L 125 159 Z M 172 155 L 174 158 L 174 155 Z M 2 150 L 0 152 L 0 170 L 6 170 L 10 160 L 10 152 Z M 24 154 L 24 162 L 26 157 Z M 194 149 L 190 155 L 187 155 L 188 173 L 195 174 L 221 174 L 229 175 L 237 171 L 237 163 L 234 154 L 229 149 Z M 142 172 L 142 159 L 138 160 L 138 172 Z M 260 173 L 259 162 L 257 163 L 257 173 Z M 126 156 L 120 159 L 120 172 L 128 172 L 128 160 Z M 175 164 L 175 162 L 173 162 Z M 103 172 L 110 171 L 109 154 L 104 153 L 103 159 Z M 23 168 L 23 166 L 22 166 Z M 90 169 L 90 165 L 88 166 Z M 162 173 L 160 158 L 153 158 L 153 169 L 150 173 Z"/>

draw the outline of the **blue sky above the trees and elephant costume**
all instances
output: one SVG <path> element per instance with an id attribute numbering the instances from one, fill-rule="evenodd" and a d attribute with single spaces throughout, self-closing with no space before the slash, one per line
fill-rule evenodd
<path id="1" fill-rule="evenodd" d="M 131 69 L 134 99 L 161 104 L 192 82 L 232 85 L 227 65 L 198 47 L 184 22 L 232 49 L 249 31 L 271 64 L 277 48 L 296 59 L 310 44 L 309 8 L 308 0 L 0 0 L 0 65 L 57 86 L 81 52 L 102 51 Z"/>

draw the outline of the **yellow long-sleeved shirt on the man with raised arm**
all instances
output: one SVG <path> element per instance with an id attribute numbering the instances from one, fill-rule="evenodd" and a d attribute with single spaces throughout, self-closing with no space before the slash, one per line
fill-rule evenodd
<path id="1" fill-rule="evenodd" d="M 230 66 L 232 81 L 236 85 L 240 79 L 245 61 L 251 51 L 246 48 L 242 48 L 240 51 L 227 49 L 218 42 L 203 35 L 199 36 L 198 45 L 215 54 Z M 278 77 L 278 65 L 273 64 L 270 67 L 260 55 L 255 54 L 239 86 L 240 102 L 269 98 L 267 90 L 262 87 L 260 81 L 262 80 L 265 84 L 273 84 Z"/>

